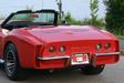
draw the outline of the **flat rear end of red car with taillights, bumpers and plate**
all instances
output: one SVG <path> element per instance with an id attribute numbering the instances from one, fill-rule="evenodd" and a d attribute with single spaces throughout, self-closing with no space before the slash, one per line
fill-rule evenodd
<path id="1" fill-rule="evenodd" d="M 117 40 L 53 42 L 40 50 L 37 69 L 111 64 L 118 61 L 118 54 Z"/>

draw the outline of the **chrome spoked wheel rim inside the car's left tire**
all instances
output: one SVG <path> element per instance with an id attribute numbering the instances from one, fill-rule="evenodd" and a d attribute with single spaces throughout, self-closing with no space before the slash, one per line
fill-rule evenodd
<path id="1" fill-rule="evenodd" d="M 12 75 L 16 71 L 16 55 L 13 51 L 8 51 L 7 58 L 6 58 L 6 71 L 8 75 Z"/>

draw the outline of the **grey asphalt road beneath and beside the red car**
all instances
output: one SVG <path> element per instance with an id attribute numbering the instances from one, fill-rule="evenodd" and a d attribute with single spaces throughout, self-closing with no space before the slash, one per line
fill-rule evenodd
<path id="1" fill-rule="evenodd" d="M 12 82 L 0 70 L 0 83 L 124 83 L 124 58 L 116 64 L 106 65 L 100 75 L 83 75 L 79 70 L 61 70 L 53 73 L 33 71 L 27 81 Z"/>

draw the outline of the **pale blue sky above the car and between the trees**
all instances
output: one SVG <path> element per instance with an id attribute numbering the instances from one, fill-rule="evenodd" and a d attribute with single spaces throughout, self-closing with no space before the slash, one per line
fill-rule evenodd
<path id="1" fill-rule="evenodd" d="M 105 6 L 103 0 L 99 1 L 99 17 L 104 18 Z M 90 0 L 62 0 L 62 2 L 63 11 L 71 12 L 73 18 L 78 20 L 90 18 Z M 0 15 L 7 17 L 13 11 L 27 9 L 27 6 L 33 10 L 42 8 L 58 10 L 55 0 L 0 0 Z"/>

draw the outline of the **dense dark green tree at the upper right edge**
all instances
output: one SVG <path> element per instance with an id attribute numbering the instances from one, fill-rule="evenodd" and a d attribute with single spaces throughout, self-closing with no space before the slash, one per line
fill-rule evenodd
<path id="1" fill-rule="evenodd" d="M 106 6 L 106 29 L 117 35 L 124 35 L 124 0 L 104 0 Z"/>

